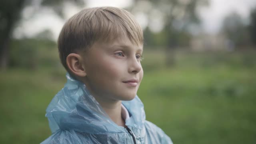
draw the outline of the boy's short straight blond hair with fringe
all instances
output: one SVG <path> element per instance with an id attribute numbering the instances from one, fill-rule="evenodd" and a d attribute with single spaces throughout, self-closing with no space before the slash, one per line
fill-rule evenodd
<path id="1" fill-rule="evenodd" d="M 143 32 L 130 12 L 115 7 L 96 7 L 81 10 L 64 24 L 58 50 L 62 65 L 68 54 L 86 52 L 97 41 L 110 41 L 126 35 L 133 44 L 143 45 Z"/>

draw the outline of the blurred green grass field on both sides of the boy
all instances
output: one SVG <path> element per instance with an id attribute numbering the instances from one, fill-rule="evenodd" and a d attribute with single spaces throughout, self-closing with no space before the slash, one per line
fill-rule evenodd
<path id="1" fill-rule="evenodd" d="M 138 96 L 146 119 L 175 144 L 256 143 L 256 52 L 146 52 Z M 38 144 L 50 136 L 46 107 L 66 82 L 64 68 L 0 72 L 1 144 Z"/>

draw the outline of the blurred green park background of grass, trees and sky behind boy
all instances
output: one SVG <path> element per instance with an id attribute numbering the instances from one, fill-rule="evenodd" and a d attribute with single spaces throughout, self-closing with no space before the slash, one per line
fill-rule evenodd
<path id="1" fill-rule="evenodd" d="M 175 144 L 256 143 L 255 0 L 1 0 L 0 143 L 50 136 L 66 82 L 56 39 L 82 8 L 117 6 L 144 30 L 146 119 Z"/>

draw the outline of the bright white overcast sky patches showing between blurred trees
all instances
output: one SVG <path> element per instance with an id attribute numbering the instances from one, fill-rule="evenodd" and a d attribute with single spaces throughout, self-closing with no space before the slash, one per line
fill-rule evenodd
<path id="1" fill-rule="evenodd" d="M 86 7 L 94 6 L 116 6 L 126 7 L 132 4 L 132 0 L 87 0 Z M 210 0 L 210 6 L 200 9 L 200 17 L 202 19 L 202 29 L 214 34 L 218 32 L 223 18 L 231 12 L 237 12 L 245 19 L 248 18 L 250 9 L 256 7 L 256 0 Z M 74 6 L 66 6 L 66 17 L 70 17 L 78 9 Z M 30 8 L 24 10 L 26 15 L 30 15 Z M 34 36 L 38 32 L 48 28 L 53 31 L 54 39 L 58 38 L 58 34 L 64 24 L 64 20 L 52 14 L 49 10 L 37 14 L 33 19 L 24 20 L 24 22 L 14 30 L 14 35 L 20 37 L 26 35 Z"/>

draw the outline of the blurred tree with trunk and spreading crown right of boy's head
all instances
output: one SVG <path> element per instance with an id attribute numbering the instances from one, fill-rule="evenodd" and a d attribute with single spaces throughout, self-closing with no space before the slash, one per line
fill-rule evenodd
<path id="1" fill-rule="evenodd" d="M 166 39 L 166 64 L 174 64 L 174 49 L 188 41 L 191 25 L 200 24 L 198 8 L 207 6 L 208 0 L 134 0 L 130 8 L 133 14 L 144 13 L 148 18 L 148 26 L 154 29 L 162 28 Z M 146 34 L 150 34 L 147 32 Z M 145 34 L 144 34 L 145 35 Z M 153 38 L 152 36 L 145 36 Z M 147 40 L 152 42 L 152 40 Z"/>

